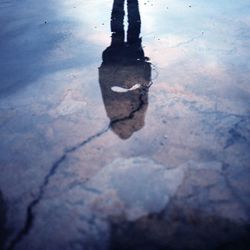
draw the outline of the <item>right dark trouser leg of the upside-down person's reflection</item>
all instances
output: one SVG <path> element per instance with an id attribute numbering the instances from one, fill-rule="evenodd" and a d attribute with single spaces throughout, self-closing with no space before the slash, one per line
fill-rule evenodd
<path id="1" fill-rule="evenodd" d="M 138 0 L 127 0 L 128 4 L 128 44 L 140 43 L 141 18 Z"/>

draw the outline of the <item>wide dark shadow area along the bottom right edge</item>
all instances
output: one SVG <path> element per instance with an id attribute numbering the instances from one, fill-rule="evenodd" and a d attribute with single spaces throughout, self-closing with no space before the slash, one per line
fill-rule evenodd
<path id="1" fill-rule="evenodd" d="M 249 223 L 177 209 L 136 221 L 114 218 L 110 250 L 249 250 Z"/>

